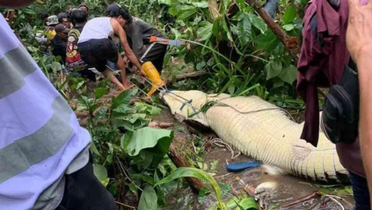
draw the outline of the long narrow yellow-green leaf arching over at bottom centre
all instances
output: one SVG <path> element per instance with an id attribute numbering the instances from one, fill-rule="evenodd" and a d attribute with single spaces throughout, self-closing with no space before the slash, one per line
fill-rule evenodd
<path id="1" fill-rule="evenodd" d="M 186 167 L 177 168 L 177 170 L 171 173 L 169 176 L 158 181 L 158 183 L 156 183 L 155 186 L 158 186 L 160 184 L 165 184 L 177 178 L 183 178 L 183 177 L 195 177 L 195 178 L 199 178 L 211 184 L 212 189 L 216 194 L 220 209 L 221 210 L 227 209 L 226 205 L 221 200 L 221 197 L 222 197 L 221 189 L 219 188 L 216 180 L 211 175 L 206 173 L 205 171 L 197 169 L 197 168 L 186 168 Z"/>

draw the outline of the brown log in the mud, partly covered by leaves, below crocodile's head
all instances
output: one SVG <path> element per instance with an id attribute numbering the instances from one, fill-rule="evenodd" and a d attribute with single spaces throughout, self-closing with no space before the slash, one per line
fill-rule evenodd
<path id="1" fill-rule="evenodd" d="M 187 162 L 186 158 L 183 157 L 182 154 L 177 152 L 176 147 L 173 144 L 170 144 L 168 156 L 177 167 L 190 167 L 189 162 Z M 194 193 L 199 193 L 200 189 L 204 187 L 204 184 L 198 178 L 186 177 L 186 180 L 190 184 Z"/>

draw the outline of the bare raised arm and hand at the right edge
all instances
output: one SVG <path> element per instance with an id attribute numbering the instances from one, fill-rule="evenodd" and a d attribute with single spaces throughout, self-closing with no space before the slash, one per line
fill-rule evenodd
<path id="1" fill-rule="evenodd" d="M 358 67 L 360 150 L 368 188 L 372 192 L 372 88 L 370 84 L 372 79 L 372 3 L 361 6 L 359 0 L 348 0 L 348 4 L 349 24 L 346 45 Z"/>

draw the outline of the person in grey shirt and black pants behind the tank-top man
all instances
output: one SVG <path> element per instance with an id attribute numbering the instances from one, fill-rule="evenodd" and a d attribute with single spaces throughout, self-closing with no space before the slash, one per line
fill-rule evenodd
<path id="1" fill-rule="evenodd" d="M 126 8 L 122 8 L 119 4 L 110 4 L 107 11 L 108 15 L 116 14 L 117 10 L 124 10 L 129 14 Z M 125 33 L 128 38 L 128 43 L 134 52 L 134 55 L 141 59 L 141 62 L 151 61 L 155 68 L 161 73 L 163 70 L 164 57 L 167 52 L 167 45 L 155 43 L 150 45 L 150 37 L 156 36 L 166 38 L 162 33 L 155 29 L 151 24 L 144 22 L 137 17 L 131 16 L 132 21 L 125 27 Z M 150 49 L 149 49 L 150 48 Z M 148 50 L 147 54 L 145 52 Z M 132 72 L 136 72 L 137 66 L 133 66 Z"/>

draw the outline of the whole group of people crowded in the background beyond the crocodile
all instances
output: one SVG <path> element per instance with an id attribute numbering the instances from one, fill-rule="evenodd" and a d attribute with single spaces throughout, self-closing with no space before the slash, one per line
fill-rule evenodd
<path id="1" fill-rule="evenodd" d="M 165 38 L 119 4 L 110 4 L 105 17 L 89 17 L 89 8 L 80 4 L 76 9 L 68 6 L 66 12 L 57 16 L 41 13 L 45 21 L 47 37 L 52 53 L 61 56 L 62 63 L 70 72 L 78 71 L 83 77 L 95 81 L 95 74 L 89 70 L 95 68 L 114 83 L 118 91 L 132 87 L 126 78 L 125 69 L 128 61 L 132 64 L 132 72 L 146 76 L 142 64 L 150 61 L 161 72 L 167 45 L 156 43 L 150 45 L 150 37 Z M 124 49 L 124 58 L 119 49 Z M 120 76 L 113 75 L 118 69 Z M 121 81 L 119 81 L 121 80 Z"/>

